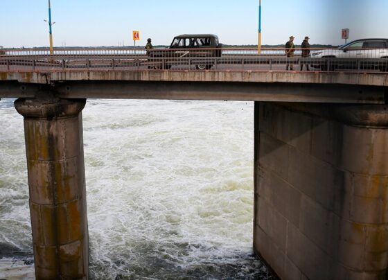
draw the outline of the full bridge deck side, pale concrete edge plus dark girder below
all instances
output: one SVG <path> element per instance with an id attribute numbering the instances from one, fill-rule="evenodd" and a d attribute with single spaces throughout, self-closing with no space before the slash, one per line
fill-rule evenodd
<path id="1" fill-rule="evenodd" d="M 317 103 L 386 101 L 388 75 L 314 71 L 53 71 L 0 73 L 0 98 L 247 100 Z"/>

